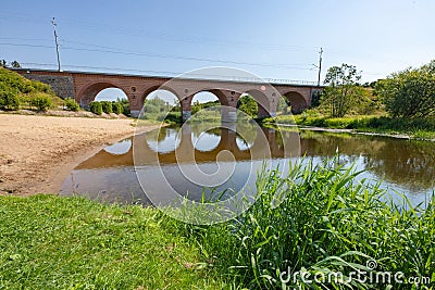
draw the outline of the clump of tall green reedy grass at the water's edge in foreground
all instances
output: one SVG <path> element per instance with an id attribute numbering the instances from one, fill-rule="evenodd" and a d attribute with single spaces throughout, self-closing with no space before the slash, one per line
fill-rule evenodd
<path id="1" fill-rule="evenodd" d="M 357 182 L 358 174 L 336 162 L 295 165 L 286 178 L 274 171 L 260 176 L 257 202 L 237 218 L 213 226 L 171 226 L 195 241 L 209 266 L 234 288 L 432 289 L 434 202 L 425 210 L 412 207 L 406 198 L 402 204 L 386 202 L 378 186 Z M 420 277 L 432 285 L 397 283 L 394 276 L 378 280 L 382 285 L 369 278 L 348 281 L 358 270 L 366 273 L 363 277 L 401 272 L 403 281 Z M 294 276 L 296 272 L 311 281 Z M 337 272 L 346 282 L 313 280 Z"/>

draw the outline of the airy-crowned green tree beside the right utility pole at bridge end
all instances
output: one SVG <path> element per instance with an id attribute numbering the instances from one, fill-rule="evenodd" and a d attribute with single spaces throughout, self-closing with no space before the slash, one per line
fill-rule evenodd
<path id="1" fill-rule="evenodd" d="M 355 65 L 344 63 L 327 70 L 324 84 L 328 87 L 323 91 L 323 102 L 330 105 L 333 117 L 343 117 L 352 108 L 361 92 L 358 86 L 360 79 Z"/>

